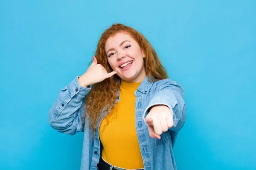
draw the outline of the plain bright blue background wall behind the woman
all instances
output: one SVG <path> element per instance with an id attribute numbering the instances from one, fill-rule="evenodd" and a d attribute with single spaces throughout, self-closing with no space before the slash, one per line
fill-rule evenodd
<path id="1" fill-rule="evenodd" d="M 255 0 L 1 0 L 0 169 L 80 168 L 83 133 L 53 130 L 48 111 L 119 22 L 145 35 L 185 90 L 178 170 L 255 170 L 255 8 Z"/>

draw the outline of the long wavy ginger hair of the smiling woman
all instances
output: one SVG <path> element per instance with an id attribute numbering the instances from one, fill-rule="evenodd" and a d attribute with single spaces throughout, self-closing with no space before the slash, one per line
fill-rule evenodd
<path id="1" fill-rule="evenodd" d="M 161 64 L 157 53 L 154 51 L 154 48 L 151 46 L 148 40 L 146 40 L 143 34 L 134 28 L 122 25 L 120 23 L 113 24 L 101 35 L 95 53 L 98 64 L 101 64 L 108 71 L 108 73 L 113 71 L 108 63 L 107 54 L 105 52 L 105 42 L 109 37 L 112 37 L 120 32 L 129 34 L 140 45 L 141 51 L 143 51 L 145 54 L 145 58 L 143 58 L 144 67 L 150 82 L 156 82 L 158 80 L 168 78 L 166 69 Z M 93 84 L 90 92 L 85 98 L 86 105 L 82 119 L 83 123 L 85 117 L 87 117 L 89 120 L 89 126 L 93 132 L 93 136 L 95 135 L 97 125 L 99 125 L 102 111 L 106 115 L 108 110 L 110 110 L 110 108 L 112 108 L 116 102 L 116 93 L 119 91 L 119 79 L 120 77 L 115 74 L 102 82 Z"/>

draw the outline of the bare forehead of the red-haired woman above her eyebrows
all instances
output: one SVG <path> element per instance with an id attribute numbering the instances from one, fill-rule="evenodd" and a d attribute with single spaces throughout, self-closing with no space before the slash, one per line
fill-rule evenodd
<path id="1" fill-rule="evenodd" d="M 134 41 L 134 39 L 127 33 L 117 33 L 108 38 L 105 43 L 105 50 L 119 46 L 119 44 L 125 40 Z"/>

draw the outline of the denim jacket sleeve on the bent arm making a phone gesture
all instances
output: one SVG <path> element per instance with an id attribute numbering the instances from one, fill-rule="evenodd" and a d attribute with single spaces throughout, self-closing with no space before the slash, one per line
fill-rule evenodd
<path id="1" fill-rule="evenodd" d="M 74 135 L 84 130 L 81 116 L 85 108 L 84 97 L 90 88 L 80 86 L 78 78 L 59 91 L 58 99 L 49 110 L 49 124 L 58 132 Z"/>

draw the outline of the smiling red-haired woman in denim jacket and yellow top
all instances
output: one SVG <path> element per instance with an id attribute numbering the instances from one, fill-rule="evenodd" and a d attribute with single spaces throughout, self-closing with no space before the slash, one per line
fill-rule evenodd
<path id="1" fill-rule="evenodd" d="M 90 67 L 49 111 L 55 130 L 84 132 L 81 170 L 175 170 L 172 148 L 185 121 L 182 86 L 145 37 L 119 23 L 102 34 Z"/>

